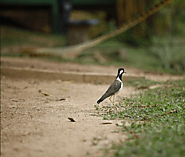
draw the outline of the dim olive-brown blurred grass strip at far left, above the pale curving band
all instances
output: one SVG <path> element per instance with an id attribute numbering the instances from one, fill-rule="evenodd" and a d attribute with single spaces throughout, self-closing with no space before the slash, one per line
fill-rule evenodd
<path id="1" fill-rule="evenodd" d="M 1 50 L 10 46 L 62 47 L 64 45 L 66 45 L 66 40 L 61 35 L 44 34 L 1 26 Z"/>

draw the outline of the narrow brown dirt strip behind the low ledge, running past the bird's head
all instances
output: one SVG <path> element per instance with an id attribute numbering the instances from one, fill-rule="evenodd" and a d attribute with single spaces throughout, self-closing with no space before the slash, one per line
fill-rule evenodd
<path id="1" fill-rule="evenodd" d="M 59 63 L 41 59 L 30 59 L 30 58 L 1 58 L 1 66 L 6 67 L 18 67 L 18 68 L 30 68 L 39 70 L 52 70 L 56 72 L 61 71 L 72 71 L 72 72 L 93 72 L 93 73 L 104 73 L 104 74 L 117 74 L 118 67 L 115 66 L 101 66 L 101 65 L 83 65 L 77 63 Z M 124 66 L 124 65 L 123 65 Z M 164 73 L 151 73 L 144 72 L 139 69 L 125 67 L 127 74 L 134 74 L 138 76 L 145 76 L 147 79 L 154 81 L 166 81 L 169 79 L 182 79 L 182 76 L 169 75 Z"/>

